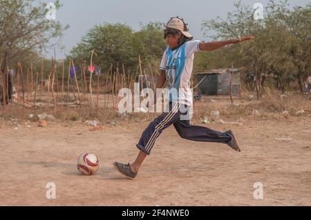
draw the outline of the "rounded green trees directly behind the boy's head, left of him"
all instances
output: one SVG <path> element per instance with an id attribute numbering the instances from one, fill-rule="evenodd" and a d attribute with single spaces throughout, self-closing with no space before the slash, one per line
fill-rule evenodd
<path id="1" fill-rule="evenodd" d="M 91 28 L 71 50 L 68 59 L 75 59 L 75 63 L 86 61 L 89 64 L 91 51 L 95 50 L 95 65 L 108 70 L 111 64 L 124 64 L 131 72 L 135 72 L 139 55 L 142 57 L 142 65 L 149 65 L 154 60 L 160 62 L 164 49 L 165 41 L 160 23 L 148 23 L 136 32 L 122 23 L 104 23 Z"/>

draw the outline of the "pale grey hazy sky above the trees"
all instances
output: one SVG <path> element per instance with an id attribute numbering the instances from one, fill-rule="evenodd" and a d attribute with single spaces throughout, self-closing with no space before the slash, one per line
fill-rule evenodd
<path id="1" fill-rule="evenodd" d="M 41 0 L 42 1 L 42 0 Z M 289 0 L 291 6 L 305 6 L 311 0 Z M 43 0 L 46 3 L 54 1 Z M 56 12 L 56 21 L 70 28 L 61 39 L 64 50 L 56 47 L 57 59 L 64 59 L 66 54 L 81 41 L 82 37 L 94 25 L 101 23 L 124 23 L 134 30 L 149 22 L 167 23 L 171 17 L 182 17 L 189 24 L 189 32 L 194 39 L 207 40 L 201 30 L 203 21 L 225 18 L 227 12 L 234 10 L 234 0 L 61 0 L 62 8 Z M 242 3 L 254 6 L 262 3 L 265 7 L 268 0 L 242 0 Z M 46 57 L 51 57 L 53 48 Z"/>

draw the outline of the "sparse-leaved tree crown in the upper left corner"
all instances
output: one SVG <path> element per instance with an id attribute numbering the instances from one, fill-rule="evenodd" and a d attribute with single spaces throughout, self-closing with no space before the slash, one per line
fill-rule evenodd
<path id="1" fill-rule="evenodd" d="M 24 57 L 53 46 L 51 39 L 59 39 L 68 26 L 46 19 L 46 3 L 35 0 L 0 1 L 0 54 L 2 69 L 12 66 Z M 55 9 L 61 7 L 55 1 Z M 57 43 L 57 42 L 56 42 Z M 1 59 L 0 58 L 0 59 Z"/>

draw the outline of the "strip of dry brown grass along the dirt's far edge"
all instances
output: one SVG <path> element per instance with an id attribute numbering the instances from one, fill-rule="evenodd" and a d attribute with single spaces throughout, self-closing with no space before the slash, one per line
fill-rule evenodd
<path id="1" fill-rule="evenodd" d="M 268 90 L 265 92 L 263 97 L 259 101 L 245 99 L 247 93 L 243 94 L 244 99 L 236 99 L 235 102 L 239 103 L 238 106 L 233 106 L 230 103 L 196 103 L 194 107 L 194 121 L 198 121 L 203 117 L 211 117 L 211 112 L 213 110 L 220 111 L 220 117 L 226 118 L 236 118 L 249 117 L 252 116 L 254 110 L 261 112 L 262 117 L 266 118 L 283 118 L 282 112 L 288 111 L 291 116 L 298 116 L 296 112 L 299 110 L 304 110 L 304 115 L 310 115 L 311 113 L 311 101 L 309 97 L 305 97 L 303 94 L 289 93 L 286 96 L 281 97 L 278 91 Z M 207 97 L 209 99 L 209 97 Z M 117 110 L 112 107 L 93 107 L 82 106 L 81 108 L 63 108 L 57 110 L 53 109 L 39 109 L 32 110 L 23 108 L 22 106 L 17 106 L 12 103 L 10 108 L 8 106 L 5 110 L 0 110 L 0 117 L 2 119 L 19 119 L 19 120 L 29 120 L 29 114 L 41 114 L 41 113 L 53 114 L 59 121 L 86 121 L 86 120 L 97 120 L 102 123 L 106 121 L 151 121 L 158 114 L 140 114 L 131 113 L 120 115 Z M 276 117 L 280 115 L 281 117 Z M 32 119 L 36 121 L 37 117 Z"/>

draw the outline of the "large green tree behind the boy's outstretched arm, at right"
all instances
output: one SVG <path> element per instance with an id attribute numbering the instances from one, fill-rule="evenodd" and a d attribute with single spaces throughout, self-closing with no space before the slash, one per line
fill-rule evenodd
<path id="1" fill-rule="evenodd" d="M 293 80 L 302 90 L 303 78 L 310 70 L 310 3 L 305 8 L 290 10 L 288 1 L 270 0 L 261 21 L 255 21 L 254 10 L 241 1 L 234 6 L 236 10 L 229 12 L 226 19 L 218 17 L 202 23 L 205 32 L 216 31 L 214 39 L 255 35 L 255 41 L 228 47 L 223 57 L 227 66 L 234 62 L 236 66 L 248 67 L 257 79 L 254 86 L 258 96 L 263 85 L 262 73 L 276 75 L 276 86 L 282 92 Z"/>

